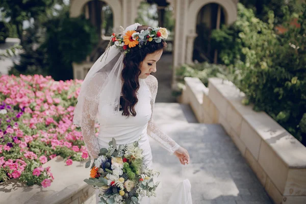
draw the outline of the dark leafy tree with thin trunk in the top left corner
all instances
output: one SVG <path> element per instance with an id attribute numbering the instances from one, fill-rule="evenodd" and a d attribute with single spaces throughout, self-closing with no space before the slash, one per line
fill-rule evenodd
<path id="1" fill-rule="evenodd" d="M 45 13 L 59 1 L 54 0 L 0 0 L 1 9 L 4 17 L 10 18 L 10 23 L 15 25 L 20 44 L 23 45 L 22 22 L 24 20 L 34 19 Z"/>

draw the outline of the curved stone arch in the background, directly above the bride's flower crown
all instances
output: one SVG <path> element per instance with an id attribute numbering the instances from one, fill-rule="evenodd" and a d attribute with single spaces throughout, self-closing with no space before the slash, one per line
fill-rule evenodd
<path id="1" fill-rule="evenodd" d="M 70 5 L 70 17 L 78 17 L 81 15 L 84 5 L 90 0 L 74 0 Z M 120 27 L 121 23 L 121 4 L 118 0 L 101 0 L 107 3 L 113 11 L 114 29 Z"/>

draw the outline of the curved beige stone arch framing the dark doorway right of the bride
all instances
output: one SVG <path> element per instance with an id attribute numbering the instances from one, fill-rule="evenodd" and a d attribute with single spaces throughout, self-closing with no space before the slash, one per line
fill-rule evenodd
<path id="1" fill-rule="evenodd" d="M 203 6 L 211 3 L 219 4 L 223 8 L 226 24 L 231 24 L 237 19 L 237 4 L 232 0 L 195 0 L 188 9 L 189 33 L 196 33 L 197 14 Z"/>

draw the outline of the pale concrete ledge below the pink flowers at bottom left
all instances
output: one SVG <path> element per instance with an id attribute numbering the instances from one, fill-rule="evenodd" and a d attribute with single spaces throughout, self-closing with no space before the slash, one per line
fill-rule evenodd
<path id="1" fill-rule="evenodd" d="M 61 157 L 56 157 L 43 166 L 50 166 L 55 180 L 51 186 L 42 188 L 34 185 L 28 187 L 9 180 L 0 184 L 1 203 L 14 204 L 81 204 L 95 201 L 95 191 L 83 180 L 89 177 L 86 161 L 75 162 L 67 166 Z M 5 201 L 5 202 L 3 202 Z"/>

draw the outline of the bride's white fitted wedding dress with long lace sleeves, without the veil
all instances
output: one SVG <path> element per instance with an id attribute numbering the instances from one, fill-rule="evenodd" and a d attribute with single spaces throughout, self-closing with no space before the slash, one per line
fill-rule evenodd
<path id="1" fill-rule="evenodd" d="M 96 74 L 90 83 L 90 86 L 92 86 L 90 87 L 91 93 L 94 94 L 92 90 L 98 90 L 98 87 L 104 83 L 106 78 L 107 73 L 105 72 Z M 157 79 L 149 75 L 146 79 L 139 79 L 139 83 L 140 88 L 137 92 L 138 103 L 135 106 L 137 115 L 135 117 L 130 116 L 126 118 L 126 116 L 121 115 L 121 111 L 119 114 L 114 115 L 112 107 L 100 107 L 99 104 L 92 101 L 85 103 L 85 108 L 86 106 L 90 109 L 94 108 L 98 113 L 97 118 L 100 126 L 98 137 L 96 137 L 94 130 L 95 121 L 89 116 L 83 118 L 82 134 L 91 159 L 98 157 L 100 148 L 108 148 L 108 143 L 112 138 L 116 139 L 117 144 L 126 144 L 134 142 L 141 137 L 139 147 L 143 149 L 144 164 L 148 167 L 152 164 L 148 136 L 157 140 L 171 154 L 180 147 L 174 140 L 164 134 L 152 119 L 152 111 L 158 89 Z M 100 200 L 98 190 L 96 191 L 96 198 L 98 202 Z M 150 199 L 144 197 L 140 203 L 149 204 Z"/>

